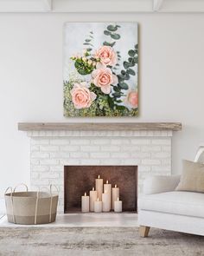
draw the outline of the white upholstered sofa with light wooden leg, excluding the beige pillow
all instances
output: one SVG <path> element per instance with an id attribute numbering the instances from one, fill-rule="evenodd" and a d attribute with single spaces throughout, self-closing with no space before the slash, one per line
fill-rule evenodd
<path id="1" fill-rule="evenodd" d="M 204 154 L 204 148 L 199 154 Z M 144 195 L 138 200 L 141 236 L 147 237 L 150 227 L 204 235 L 204 194 L 175 191 L 179 181 L 180 176 L 154 176 L 144 181 Z"/>

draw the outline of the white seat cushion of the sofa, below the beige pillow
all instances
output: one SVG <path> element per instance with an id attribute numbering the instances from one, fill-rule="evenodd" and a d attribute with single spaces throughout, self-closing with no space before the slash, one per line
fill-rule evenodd
<path id="1" fill-rule="evenodd" d="M 173 191 L 144 195 L 138 200 L 141 210 L 204 218 L 204 194 Z"/>

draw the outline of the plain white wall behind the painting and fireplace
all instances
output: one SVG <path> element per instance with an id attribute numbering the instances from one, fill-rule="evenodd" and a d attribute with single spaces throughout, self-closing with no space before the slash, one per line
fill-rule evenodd
<path id="1" fill-rule="evenodd" d="M 0 14 L 1 195 L 5 187 L 29 183 L 29 138 L 17 122 L 70 121 L 62 106 L 67 21 L 139 23 L 140 115 L 117 121 L 182 121 L 173 140 L 173 173 L 180 172 L 182 158 L 193 159 L 204 136 L 202 14 Z"/>

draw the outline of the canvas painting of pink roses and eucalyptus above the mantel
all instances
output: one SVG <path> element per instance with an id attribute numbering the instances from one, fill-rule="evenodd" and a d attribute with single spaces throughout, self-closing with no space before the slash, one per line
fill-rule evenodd
<path id="1" fill-rule="evenodd" d="M 64 115 L 137 115 L 137 64 L 137 23 L 65 23 Z"/>

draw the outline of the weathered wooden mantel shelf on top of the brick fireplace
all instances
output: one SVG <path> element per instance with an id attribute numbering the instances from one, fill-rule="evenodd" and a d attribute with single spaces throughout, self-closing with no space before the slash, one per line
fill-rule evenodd
<path id="1" fill-rule="evenodd" d="M 41 130 L 182 130 L 181 122 L 19 122 L 21 131 Z"/>

